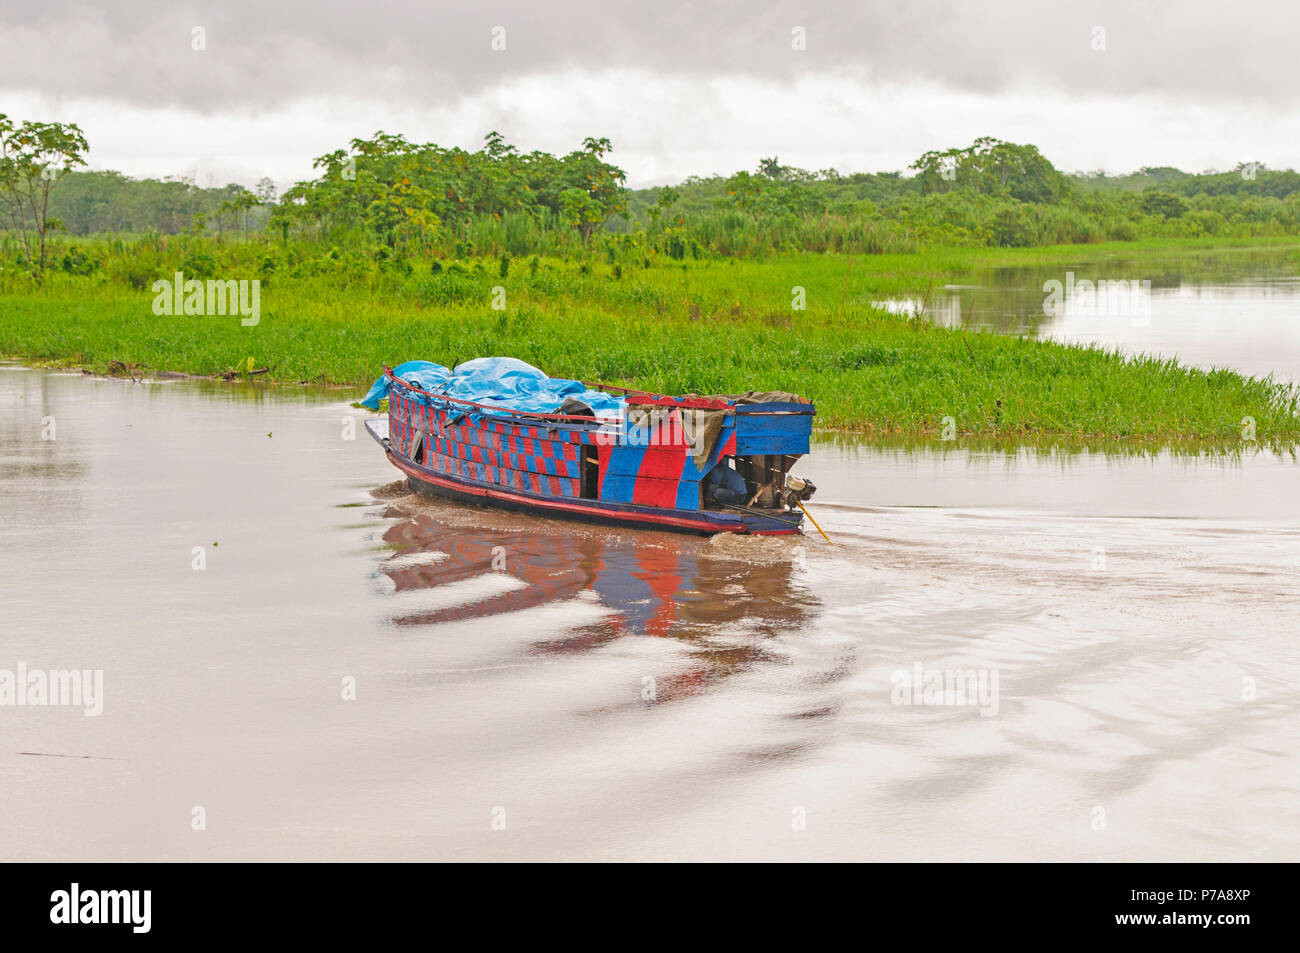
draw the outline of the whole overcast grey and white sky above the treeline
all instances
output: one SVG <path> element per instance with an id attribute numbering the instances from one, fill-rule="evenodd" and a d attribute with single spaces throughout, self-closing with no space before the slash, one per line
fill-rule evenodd
<path id="1" fill-rule="evenodd" d="M 283 187 L 380 129 L 604 135 L 632 186 L 771 155 L 901 169 L 979 135 L 1065 170 L 1283 168 L 1297 40 L 1296 0 L 0 0 L 0 112 L 81 124 L 91 168 L 200 185 Z"/>

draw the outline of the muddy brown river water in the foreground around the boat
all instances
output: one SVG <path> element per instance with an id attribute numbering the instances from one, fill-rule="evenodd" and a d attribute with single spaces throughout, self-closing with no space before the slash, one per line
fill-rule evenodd
<path id="1" fill-rule="evenodd" d="M 705 540 L 412 498 L 355 397 L 0 369 L 0 857 L 1300 853 L 1291 455 L 826 437 L 831 545 Z"/>

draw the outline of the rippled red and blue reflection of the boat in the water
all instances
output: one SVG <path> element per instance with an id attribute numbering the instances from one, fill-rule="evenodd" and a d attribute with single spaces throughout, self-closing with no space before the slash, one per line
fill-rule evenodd
<path id="1" fill-rule="evenodd" d="M 568 605 L 568 634 L 530 640 L 520 620 L 520 649 L 547 655 L 590 651 L 625 636 L 677 640 L 693 663 L 658 684 L 660 699 L 692 694 L 764 660 L 766 638 L 797 631 L 820 611 L 798 581 L 798 537 L 697 538 L 576 527 L 420 497 L 394 501 L 385 516 L 398 520 L 384 534 L 396 549 L 378 569 L 395 594 L 459 590 L 448 592 L 450 605 L 433 598 L 433 607 L 394 612 L 395 625 L 442 625 L 540 606 L 564 612 Z M 607 610 L 595 620 L 593 603 Z"/>

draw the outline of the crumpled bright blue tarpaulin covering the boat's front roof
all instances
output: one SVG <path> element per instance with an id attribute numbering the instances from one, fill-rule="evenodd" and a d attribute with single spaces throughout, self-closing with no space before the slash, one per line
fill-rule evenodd
<path id="1" fill-rule="evenodd" d="M 393 368 L 393 374 L 421 390 L 525 413 L 556 413 L 567 398 L 581 400 L 598 417 L 618 417 L 623 413 L 621 397 L 588 390 L 581 381 L 547 377 L 545 372 L 515 358 L 478 358 L 458 364 L 455 371 L 426 360 L 411 360 Z M 380 400 L 389 395 L 389 378 L 381 377 L 361 404 L 378 410 Z"/>

